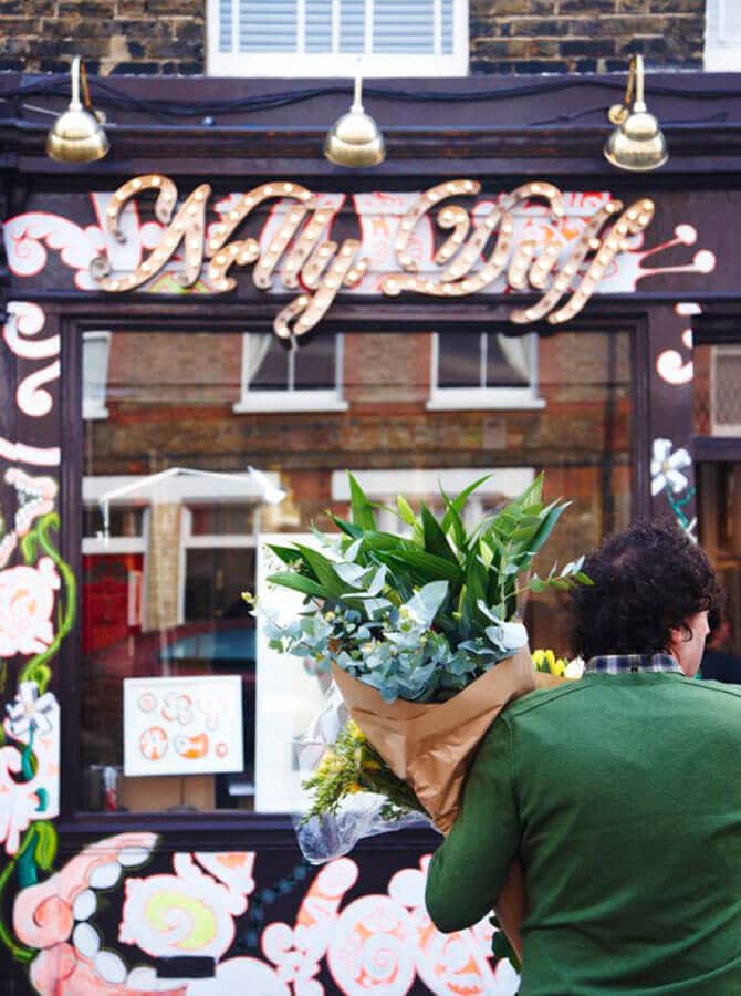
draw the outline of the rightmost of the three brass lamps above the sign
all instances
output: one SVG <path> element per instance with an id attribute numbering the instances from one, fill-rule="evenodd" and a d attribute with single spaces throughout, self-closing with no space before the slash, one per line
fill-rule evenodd
<path id="1" fill-rule="evenodd" d="M 605 158 L 608 163 L 618 169 L 634 173 L 664 166 L 669 158 L 669 149 L 658 121 L 646 108 L 643 55 L 630 56 L 625 98 L 622 104 L 613 104 L 607 116 L 617 125 L 605 144 Z"/>

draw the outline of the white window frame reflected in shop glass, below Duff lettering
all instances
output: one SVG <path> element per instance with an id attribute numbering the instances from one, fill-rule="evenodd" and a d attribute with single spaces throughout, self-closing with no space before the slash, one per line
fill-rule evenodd
<path id="1" fill-rule="evenodd" d="M 530 385 L 528 387 L 488 387 L 486 385 L 486 342 L 492 332 L 480 333 L 481 386 L 479 387 L 440 387 L 439 362 L 440 340 L 437 332 L 432 334 L 430 350 L 430 396 L 426 404 L 428 412 L 461 411 L 466 408 L 544 408 L 545 398 L 539 395 L 538 385 L 538 334 L 529 333 L 530 349 Z"/>

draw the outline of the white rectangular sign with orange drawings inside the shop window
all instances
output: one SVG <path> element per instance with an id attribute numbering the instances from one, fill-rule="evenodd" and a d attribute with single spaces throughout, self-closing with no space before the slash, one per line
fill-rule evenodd
<path id="1" fill-rule="evenodd" d="M 124 678 L 124 775 L 243 767 L 240 675 Z"/>

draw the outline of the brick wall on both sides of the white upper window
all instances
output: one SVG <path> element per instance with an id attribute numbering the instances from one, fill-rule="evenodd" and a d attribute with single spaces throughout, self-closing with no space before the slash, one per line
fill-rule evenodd
<path id="1" fill-rule="evenodd" d="M 205 71 L 205 0 L 0 0 L 0 71 Z M 472 73 L 701 66 L 705 0 L 470 0 Z M 286 65 L 286 75 L 291 72 Z"/>

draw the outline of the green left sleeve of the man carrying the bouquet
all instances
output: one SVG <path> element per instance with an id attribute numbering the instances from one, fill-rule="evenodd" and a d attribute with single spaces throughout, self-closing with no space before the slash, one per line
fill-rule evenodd
<path id="1" fill-rule="evenodd" d="M 520 847 L 509 724 L 497 719 L 471 766 L 461 811 L 432 855 L 425 902 L 448 934 L 492 909 Z"/>

